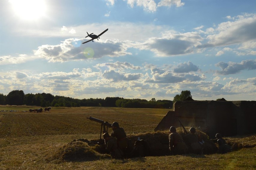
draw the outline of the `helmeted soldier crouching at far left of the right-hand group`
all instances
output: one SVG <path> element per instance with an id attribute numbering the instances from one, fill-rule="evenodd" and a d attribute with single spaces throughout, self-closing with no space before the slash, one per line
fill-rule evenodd
<path id="1" fill-rule="evenodd" d="M 182 155 L 187 152 L 187 146 L 179 135 L 176 132 L 176 128 L 174 126 L 170 127 L 169 130 L 169 150 L 172 155 Z"/>

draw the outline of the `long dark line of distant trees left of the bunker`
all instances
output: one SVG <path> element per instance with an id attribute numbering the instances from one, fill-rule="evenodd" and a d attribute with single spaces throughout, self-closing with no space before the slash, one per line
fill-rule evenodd
<path id="1" fill-rule="evenodd" d="M 53 96 L 50 93 L 24 94 L 23 90 L 13 90 L 8 95 L 0 93 L 0 105 L 29 105 L 40 107 L 80 107 L 102 106 L 121 108 L 172 108 L 171 100 L 150 101 L 145 99 L 123 99 L 121 97 L 106 97 L 105 99 L 74 99 L 65 96 Z"/>

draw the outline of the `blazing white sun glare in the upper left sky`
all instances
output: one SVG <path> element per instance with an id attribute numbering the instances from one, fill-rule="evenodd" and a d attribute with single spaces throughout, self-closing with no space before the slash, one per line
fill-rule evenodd
<path id="1" fill-rule="evenodd" d="M 10 0 L 14 13 L 24 20 L 37 20 L 46 12 L 44 0 Z"/>

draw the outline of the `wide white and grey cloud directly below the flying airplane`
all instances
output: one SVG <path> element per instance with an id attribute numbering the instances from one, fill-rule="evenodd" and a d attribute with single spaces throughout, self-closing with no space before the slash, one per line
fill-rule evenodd
<path id="1" fill-rule="evenodd" d="M 87 46 L 79 47 L 74 46 L 76 42 L 79 42 L 80 44 L 81 39 L 71 38 L 66 39 L 58 45 L 42 45 L 38 47 L 38 50 L 34 50 L 34 54 L 36 56 L 47 59 L 49 62 L 66 62 L 70 60 L 85 60 L 88 58 L 101 58 L 103 56 L 123 56 L 130 54 L 126 52 L 126 47 L 124 47 L 120 42 L 97 42 L 90 43 Z"/>

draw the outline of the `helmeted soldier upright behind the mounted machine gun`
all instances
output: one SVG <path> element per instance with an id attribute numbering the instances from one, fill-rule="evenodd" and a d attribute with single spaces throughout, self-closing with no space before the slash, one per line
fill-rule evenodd
<path id="1" fill-rule="evenodd" d="M 111 132 L 111 136 L 117 139 L 117 146 L 120 150 L 125 152 L 126 147 L 128 146 L 128 138 L 126 137 L 124 129 L 122 127 L 119 127 L 119 124 L 117 122 L 112 123 L 112 129 L 113 131 Z"/>

